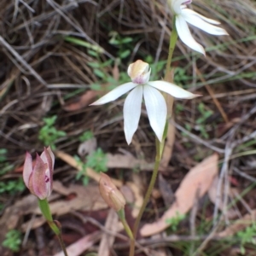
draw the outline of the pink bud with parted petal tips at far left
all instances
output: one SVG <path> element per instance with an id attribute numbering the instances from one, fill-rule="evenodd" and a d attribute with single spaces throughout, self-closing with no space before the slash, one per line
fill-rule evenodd
<path id="1" fill-rule="evenodd" d="M 44 148 L 44 152 L 40 156 L 37 154 L 34 167 L 32 166 L 32 155 L 26 152 L 23 180 L 30 192 L 41 200 L 51 194 L 54 164 L 55 156 L 50 148 Z"/>

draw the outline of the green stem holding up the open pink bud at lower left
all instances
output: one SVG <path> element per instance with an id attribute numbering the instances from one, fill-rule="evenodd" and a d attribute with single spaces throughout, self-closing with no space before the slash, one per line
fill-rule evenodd
<path id="1" fill-rule="evenodd" d="M 53 230 L 55 232 L 55 235 L 58 237 L 58 240 L 61 244 L 61 248 L 62 248 L 64 255 L 68 256 L 67 249 L 65 247 L 64 241 L 61 236 L 61 226 L 60 226 L 61 224 L 59 224 L 58 222 L 55 222 L 53 220 L 51 212 L 49 210 L 49 203 L 48 203 L 47 199 L 43 199 L 43 200 L 38 199 L 38 205 L 39 205 L 41 212 L 44 215 L 44 218 L 47 220 L 49 227 L 51 228 L 51 230 Z"/>

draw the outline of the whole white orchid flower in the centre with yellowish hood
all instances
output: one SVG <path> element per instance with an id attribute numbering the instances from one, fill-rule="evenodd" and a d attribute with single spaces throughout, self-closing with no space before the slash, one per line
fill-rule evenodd
<path id="1" fill-rule="evenodd" d="M 130 83 L 121 84 L 115 89 L 102 96 L 99 100 L 91 105 L 102 105 L 112 102 L 131 90 L 125 99 L 124 120 L 125 120 L 125 138 L 128 144 L 137 131 L 138 122 L 141 115 L 143 98 L 145 101 L 149 123 L 158 137 L 162 140 L 167 117 L 167 107 L 164 96 L 160 91 L 164 91 L 171 96 L 180 99 L 192 99 L 195 95 L 187 90 L 183 90 L 175 84 L 165 81 L 149 81 L 151 69 L 148 63 L 136 61 L 128 67 L 128 75 L 131 77 Z"/>

